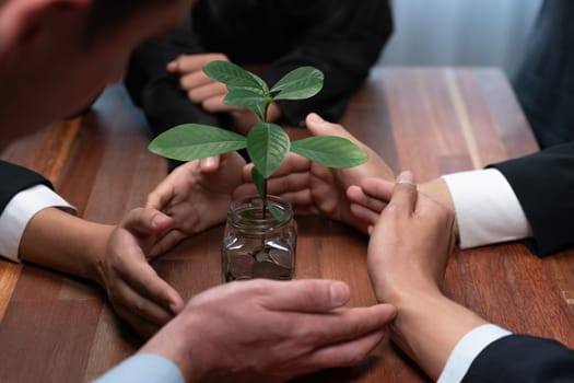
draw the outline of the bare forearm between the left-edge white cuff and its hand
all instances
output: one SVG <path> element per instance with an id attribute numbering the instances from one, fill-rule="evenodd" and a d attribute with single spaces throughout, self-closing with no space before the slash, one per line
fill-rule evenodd
<path id="1" fill-rule="evenodd" d="M 20 243 L 20 258 L 102 283 L 97 263 L 113 227 L 89 222 L 56 208 L 40 210 Z"/>

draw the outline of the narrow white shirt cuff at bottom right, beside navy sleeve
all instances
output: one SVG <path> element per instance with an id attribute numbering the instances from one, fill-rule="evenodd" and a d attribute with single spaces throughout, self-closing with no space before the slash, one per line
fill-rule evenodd
<path id="1" fill-rule="evenodd" d="M 470 364 L 487 346 L 511 334 L 508 330 L 493 324 L 485 324 L 468 332 L 456 344 L 436 382 L 460 382 L 467 374 Z"/>

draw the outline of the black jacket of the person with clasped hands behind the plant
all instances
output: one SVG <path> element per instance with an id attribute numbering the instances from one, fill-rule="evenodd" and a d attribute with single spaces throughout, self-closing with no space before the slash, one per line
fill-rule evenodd
<path id="1" fill-rule="evenodd" d="M 387 0 L 198 0 L 188 24 L 133 51 L 126 86 L 155 134 L 184 123 L 224 127 L 224 116 L 188 101 L 167 62 L 181 54 L 223 53 L 235 63 L 265 68 L 260 74 L 270 85 L 314 66 L 325 73 L 324 89 L 311 100 L 278 102 L 282 123 L 303 125 L 309 112 L 337 120 L 391 28 Z"/>

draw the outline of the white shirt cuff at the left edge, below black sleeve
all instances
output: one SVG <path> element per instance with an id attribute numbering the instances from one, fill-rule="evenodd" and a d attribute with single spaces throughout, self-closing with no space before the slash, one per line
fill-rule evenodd
<path id="1" fill-rule="evenodd" d="M 46 185 L 35 185 L 16 194 L 0 214 L 0 255 L 20 262 L 20 240 L 26 225 L 38 211 L 48 207 L 75 212 L 75 208 Z"/>

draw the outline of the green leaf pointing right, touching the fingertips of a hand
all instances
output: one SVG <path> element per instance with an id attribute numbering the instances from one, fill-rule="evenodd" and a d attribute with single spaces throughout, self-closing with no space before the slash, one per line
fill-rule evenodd
<path id="1" fill-rule="evenodd" d="M 291 151 L 328 167 L 352 167 L 365 163 L 365 151 L 342 137 L 319 136 L 291 142 Z"/>

